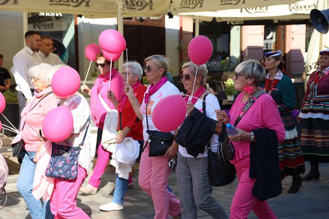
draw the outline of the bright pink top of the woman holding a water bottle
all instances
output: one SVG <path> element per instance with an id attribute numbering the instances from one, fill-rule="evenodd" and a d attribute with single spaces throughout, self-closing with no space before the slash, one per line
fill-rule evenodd
<path id="1" fill-rule="evenodd" d="M 231 115 L 229 123 L 231 124 L 235 123 L 235 120 L 240 115 L 246 104 L 246 102 L 241 103 L 242 97 L 243 94 L 239 94 L 229 111 Z M 283 142 L 285 139 L 285 131 L 280 114 L 273 98 L 269 94 L 263 94 L 257 99 L 257 101 L 243 115 L 242 119 L 237 124 L 237 128 L 246 132 L 251 132 L 258 128 L 273 129 L 276 132 L 278 142 Z M 233 142 L 233 146 L 233 164 L 234 162 L 250 156 L 250 143 L 248 141 Z"/>

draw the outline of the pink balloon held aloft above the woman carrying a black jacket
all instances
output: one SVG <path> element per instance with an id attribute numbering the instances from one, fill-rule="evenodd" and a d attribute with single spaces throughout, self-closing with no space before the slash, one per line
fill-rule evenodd
<path id="1" fill-rule="evenodd" d="M 213 54 L 212 42 L 205 36 L 194 37 L 188 45 L 187 53 L 194 64 L 202 65 Z"/>

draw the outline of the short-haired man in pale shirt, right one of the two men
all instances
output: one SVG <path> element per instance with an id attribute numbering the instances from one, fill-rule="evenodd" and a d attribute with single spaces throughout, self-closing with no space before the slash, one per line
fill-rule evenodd
<path id="1" fill-rule="evenodd" d="M 41 37 L 41 48 L 38 55 L 40 55 L 42 62 L 47 64 L 56 65 L 63 63 L 58 55 L 53 53 L 53 42 L 48 36 Z"/>

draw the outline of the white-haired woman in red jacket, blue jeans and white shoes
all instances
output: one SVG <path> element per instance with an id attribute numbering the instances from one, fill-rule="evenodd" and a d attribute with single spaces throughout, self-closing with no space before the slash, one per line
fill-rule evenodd
<path id="1" fill-rule="evenodd" d="M 139 103 L 142 103 L 146 86 L 141 84 L 143 75 L 142 66 L 137 61 L 128 61 L 123 64 L 123 72 L 121 73 L 125 84 L 129 84 Z M 119 133 L 116 136 L 115 143 L 121 144 L 126 137 L 131 137 L 135 141 L 143 142 L 143 125 L 142 121 L 137 117 L 130 101 L 124 94 L 120 102 L 115 98 L 113 91 L 108 92 L 109 100 L 118 109 L 118 125 Z M 139 150 L 139 149 L 138 149 Z M 117 174 L 115 180 L 115 189 L 113 199 L 110 203 L 102 205 L 101 211 L 114 211 L 123 209 L 123 198 L 127 190 L 128 174 Z"/>

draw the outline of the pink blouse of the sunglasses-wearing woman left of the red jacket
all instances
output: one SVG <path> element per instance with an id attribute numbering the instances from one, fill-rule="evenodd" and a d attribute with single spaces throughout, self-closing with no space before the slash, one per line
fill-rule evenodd
<path id="1" fill-rule="evenodd" d="M 90 111 L 91 117 L 96 123 L 97 127 L 101 127 L 103 129 L 105 116 L 107 114 L 107 110 L 104 108 L 100 97 L 98 96 L 97 88 L 100 89 L 101 97 L 105 101 L 105 103 L 109 106 L 110 109 L 116 109 L 112 102 L 108 99 L 108 91 L 109 91 L 109 83 L 110 81 L 105 79 L 105 77 L 100 74 L 95 81 L 93 88 L 91 89 L 91 101 L 90 101 Z M 123 95 L 123 79 L 121 74 L 115 69 L 112 68 L 111 75 L 111 91 L 113 91 L 116 100 L 120 101 Z"/>

